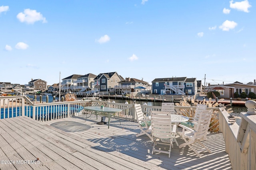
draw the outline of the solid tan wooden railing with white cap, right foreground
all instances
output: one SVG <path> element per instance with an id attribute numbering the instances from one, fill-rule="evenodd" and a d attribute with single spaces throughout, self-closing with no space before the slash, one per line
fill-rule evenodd
<path id="1" fill-rule="evenodd" d="M 249 100 L 250 101 L 250 100 Z M 248 102 L 248 101 L 247 101 Z M 255 113 L 256 114 L 256 113 Z M 240 113 L 240 125 L 229 123 L 227 111 L 221 111 L 219 122 L 233 170 L 256 169 L 256 115 Z"/>

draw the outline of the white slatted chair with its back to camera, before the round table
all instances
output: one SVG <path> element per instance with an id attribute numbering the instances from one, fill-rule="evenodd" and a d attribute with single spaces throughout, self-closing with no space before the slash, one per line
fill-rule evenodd
<path id="1" fill-rule="evenodd" d="M 154 142 L 152 154 L 154 152 L 162 152 L 169 154 L 170 158 L 171 147 L 173 148 L 172 141 L 175 138 L 176 133 L 176 125 L 172 125 L 171 116 L 172 115 L 167 111 L 151 111 L 151 133 Z M 157 144 L 170 145 L 170 149 L 169 151 L 162 150 L 161 148 L 156 149 Z"/>

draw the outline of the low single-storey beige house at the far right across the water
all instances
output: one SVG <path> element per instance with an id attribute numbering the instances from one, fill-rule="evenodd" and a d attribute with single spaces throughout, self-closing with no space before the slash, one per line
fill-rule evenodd
<path id="1" fill-rule="evenodd" d="M 234 82 L 231 84 L 222 84 L 216 86 L 208 86 L 209 91 L 218 91 L 220 93 L 220 98 L 234 98 L 234 93 L 238 92 L 241 94 L 245 92 L 247 95 L 250 92 L 256 92 L 256 86 L 252 84 L 243 84 L 240 82 Z"/>

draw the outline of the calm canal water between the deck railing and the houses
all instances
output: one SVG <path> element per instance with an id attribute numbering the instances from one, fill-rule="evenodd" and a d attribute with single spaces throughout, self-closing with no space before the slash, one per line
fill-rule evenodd
<path id="1" fill-rule="evenodd" d="M 27 95 L 29 98 L 32 98 L 32 100 L 34 100 L 34 95 Z M 52 102 L 53 100 L 53 96 L 48 96 L 49 97 L 49 102 Z M 58 96 L 56 96 L 55 100 L 58 100 Z M 36 100 L 37 101 L 40 101 L 40 95 L 36 95 Z M 106 100 L 108 101 L 108 99 L 103 99 L 103 100 Z M 43 102 L 46 102 L 46 96 L 45 95 L 42 95 L 42 101 Z M 125 103 L 125 102 L 128 102 L 128 104 L 132 104 L 133 101 L 132 100 L 114 100 L 114 99 L 110 99 L 110 102 L 113 102 L 115 101 L 116 103 Z M 147 106 L 161 106 L 161 102 L 152 102 L 152 101 L 140 101 L 140 100 L 136 100 L 136 104 L 141 104 L 143 105 L 144 103 L 147 104 Z M 245 106 L 230 106 L 230 107 L 227 107 L 228 108 L 232 108 L 233 110 L 233 114 L 235 115 L 239 115 L 240 112 L 246 112 L 247 111 L 247 108 Z"/>

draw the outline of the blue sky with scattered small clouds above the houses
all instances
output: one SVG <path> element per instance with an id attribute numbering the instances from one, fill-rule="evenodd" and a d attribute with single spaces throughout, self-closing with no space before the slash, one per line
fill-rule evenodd
<path id="1" fill-rule="evenodd" d="M 255 16 L 252 0 L 0 0 L 0 82 L 116 71 L 246 84 Z"/>

